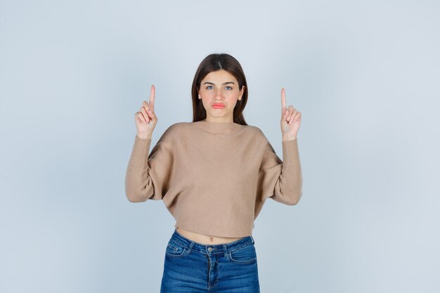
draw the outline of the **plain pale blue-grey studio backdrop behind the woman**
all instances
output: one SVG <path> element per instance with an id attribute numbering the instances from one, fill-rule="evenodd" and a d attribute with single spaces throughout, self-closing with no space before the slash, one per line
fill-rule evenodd
<path id="1" fill-rule="evenodd" d="M 159 292 L 174 219 L 131 203 L 134 113 L 191 122 L 209 53 L 245 71 L 282 157 L 302 112 L 299 204 L 253 236 L 261 292 L 439 292 L 438 1 L 0 1 L 0 292 Z"/>

